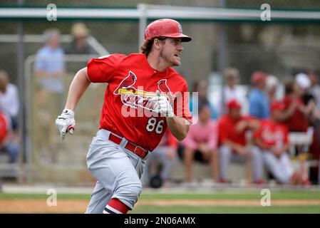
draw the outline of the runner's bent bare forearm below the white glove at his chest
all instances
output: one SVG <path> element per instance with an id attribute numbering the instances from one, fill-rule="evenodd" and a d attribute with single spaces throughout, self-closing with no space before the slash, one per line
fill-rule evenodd
<path id="1" fill-rule="evenodd" d="M 167 127 L 172 135 L 181 142 L 187 136 L 190 125 L 187 124 L 185 118 L 175 116 L 173 118 L 167 117 Z"/>

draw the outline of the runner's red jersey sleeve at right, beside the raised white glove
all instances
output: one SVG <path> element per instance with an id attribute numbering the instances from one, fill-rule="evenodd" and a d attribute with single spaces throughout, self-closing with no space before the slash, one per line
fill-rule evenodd
<path id="1" fill-rule="evenodd" d="M 187 88 L 187 84 L 182 88 L 181 93 L 176 94 L 174 102 L 174 112 L 175 115 L 185 118 L 190 123 L 192 123 L 192 114 L 189 107 L 190 94 Z"/>

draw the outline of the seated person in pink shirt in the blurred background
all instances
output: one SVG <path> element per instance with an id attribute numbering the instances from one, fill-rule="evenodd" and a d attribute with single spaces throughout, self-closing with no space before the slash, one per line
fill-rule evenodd
<path id="1" fill-rule="evenodd" d="M 189 133 L 182 145 L 185 147 L 183 161 L 187 182 L 192 182 L 192 163 L 194 160 L 209 162 L 212 167 L 212 180 L 218 177 L 217 140 L 218 128 L 215 120 L 210 118 L 211 111 L 208 105 L 199 105 L 197 123 L 190 126 Z"/>

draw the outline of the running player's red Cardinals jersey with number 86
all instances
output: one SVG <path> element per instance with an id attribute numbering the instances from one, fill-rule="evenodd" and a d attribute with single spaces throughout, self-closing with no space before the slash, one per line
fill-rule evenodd
<path id="1" fill-rule="evenodd" d="M 172 102 L 175 115 L 192 121 L 189 110 L 187 82 L 172 68 L 153 69 L 145 54 L 129 56 L 115 53 L 92 58 L 88 62 L 88 77 L 93 83 L 108 83 L 100 118 L 100 128 L 125 137 L 130 142 L 154 150 L 159 144 L 167 122 L 153 112 L 149 101 L 156 90 Z"/>

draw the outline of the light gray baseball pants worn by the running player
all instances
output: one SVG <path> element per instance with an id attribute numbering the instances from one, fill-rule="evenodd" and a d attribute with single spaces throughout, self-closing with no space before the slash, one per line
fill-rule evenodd
<path id="1" fill-rule="evenodd" d="M 124 147 L 108 140 L 110 132 L 100 129 L 93 138 L 87 155 L 87 166 L 98 181 L 91 195 L 86 214 L 102 214 L 110 199 L 119 199 L 133 209 L 142 190 L 140 177 L 145 161 Z"/>

